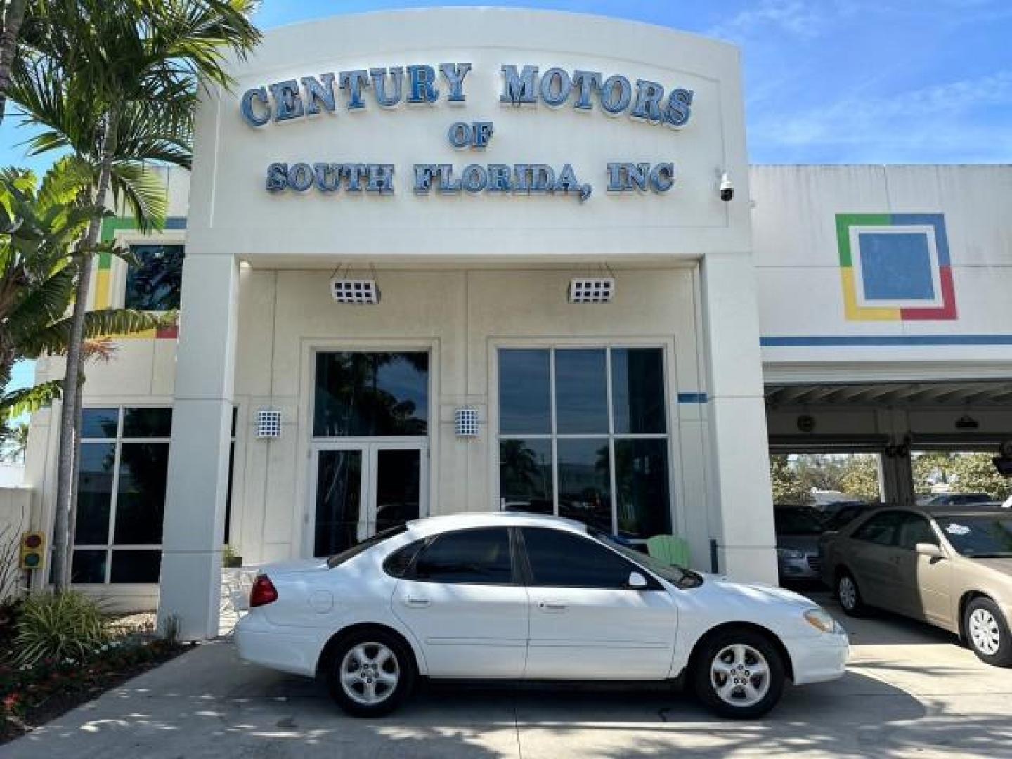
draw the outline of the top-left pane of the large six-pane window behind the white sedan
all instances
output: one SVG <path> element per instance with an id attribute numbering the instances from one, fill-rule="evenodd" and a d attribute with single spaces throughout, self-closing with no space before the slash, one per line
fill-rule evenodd
<path id="1" fill-rule="evenodd" d="M 499 351 L 499 431 L 504 435 L 552 432 L 552 352 Z"/>

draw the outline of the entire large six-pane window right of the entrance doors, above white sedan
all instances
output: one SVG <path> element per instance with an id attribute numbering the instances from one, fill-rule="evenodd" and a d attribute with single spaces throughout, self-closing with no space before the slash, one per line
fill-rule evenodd
<path id="1" fill-rule="evenodd" d="M 661 348 L 500 350 L 500 508 L 669 533 L 664 388 Z"/>

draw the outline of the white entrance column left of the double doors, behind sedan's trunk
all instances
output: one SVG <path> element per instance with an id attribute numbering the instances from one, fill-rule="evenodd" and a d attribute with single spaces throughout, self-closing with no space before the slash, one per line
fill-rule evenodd
<path id="1" fill-rule="evenodd" d="M 238 281 L 231 255 L 183 265 L 158 604 L 159 629 L 173 616 L 183 640 L 218 635 Z"/>

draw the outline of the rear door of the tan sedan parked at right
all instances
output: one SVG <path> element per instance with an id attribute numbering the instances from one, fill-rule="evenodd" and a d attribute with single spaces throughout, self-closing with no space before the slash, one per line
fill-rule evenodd
<path id="1" fill-rule="evenodd" d="M 862 598 L 873 606 L 890 608 L 896 603 L 900 575 L 896 540 L 902 518 L 900 511 L 877 513 L 851 533 L 847 544 L 844 561 Z"/>

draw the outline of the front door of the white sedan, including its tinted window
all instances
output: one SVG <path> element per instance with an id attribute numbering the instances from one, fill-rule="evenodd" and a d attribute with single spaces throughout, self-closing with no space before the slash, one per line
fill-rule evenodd
<path id="1" fill-rule="evenodd" d="M 526 679 L 660 680 L 668 677 L 678 613 L 654 578 L 575 532 L 522 527 L 530 603 Z"/>

